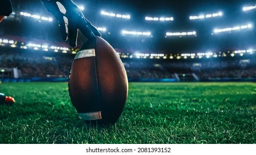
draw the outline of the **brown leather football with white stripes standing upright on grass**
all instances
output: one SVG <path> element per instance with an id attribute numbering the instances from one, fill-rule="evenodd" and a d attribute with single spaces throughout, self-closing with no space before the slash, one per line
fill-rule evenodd
<path id="1" fill-rule="evenodd" d="M 69 76 L 69 95 L 83 120 L 115 123 L 124 110 L 128 80 L 114 48 L 103 38 L 85 42 L 75 55 Z"/>

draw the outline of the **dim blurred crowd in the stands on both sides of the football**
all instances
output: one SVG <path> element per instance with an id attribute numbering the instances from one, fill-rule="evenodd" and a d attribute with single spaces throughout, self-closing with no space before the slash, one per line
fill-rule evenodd
<path id="1" fill-rule="evenodd" d="M 68 77 L 74 54 L 0 52 L 0 68 L 18 68 L 19 77 Z M 200 80 L 218 78 L 256 78 L 256 59 L 153 60 L 124 59 L 129 79 L 173 79 L 195 74 Z"/>

